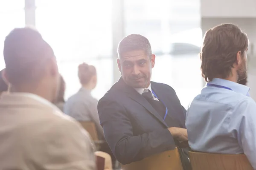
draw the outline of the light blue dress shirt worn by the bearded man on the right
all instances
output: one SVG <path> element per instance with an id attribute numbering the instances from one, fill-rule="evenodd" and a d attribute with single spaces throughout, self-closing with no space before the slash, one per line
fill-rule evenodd
<path id="1" fill-rule="evenodd" d="M 189 146 L 208 153 L 244 153 L 256 169 L 256 103 L 250 88 L 213 79 L 196 96 L 186 114 Z"/>

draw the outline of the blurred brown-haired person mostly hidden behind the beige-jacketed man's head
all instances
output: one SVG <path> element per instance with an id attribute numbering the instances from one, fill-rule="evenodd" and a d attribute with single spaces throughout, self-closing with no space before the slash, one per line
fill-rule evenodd
<path id="1" fill-rule="evenodd" d="M 54 103 L 62 112 L 63 112 L 64 104 L 65 104 L 65 100 L 64 100 L 65 89 L 66 89 L 66 83 L 65 83 L 63 77 L 60 75 L 60 82 L 59 82 L 58 94 L 57 94 L 57 97 L 56 97 L 56 99 L 55 99 L 55 101 L 54 101 L 53 103 Z"/>

